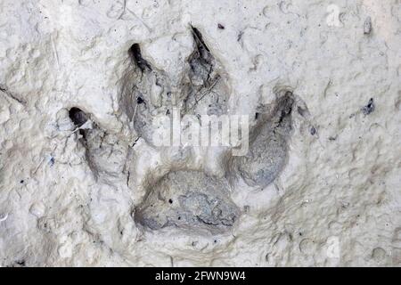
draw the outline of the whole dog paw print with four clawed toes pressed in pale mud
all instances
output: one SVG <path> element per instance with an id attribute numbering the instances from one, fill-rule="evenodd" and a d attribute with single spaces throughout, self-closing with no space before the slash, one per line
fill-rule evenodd
<path id="1" fill-rule="evenodd" d="M 121 80 L 119 109 L 126 115 L 127 124 L 155 151 L 168 151 L 158 149 L 152 142 L 152 119 L 156 116 L 169 117 L 172 108 L 192 115 L 221 116 L 228 112 L 230 96 L 224 69 L 200 30 L 191 27 L 190 33 L 193 50 L 178 84 L 143 57 L 141 45 L 132 45 L 128 52 L 131 64 Z M 199 234 L 233 228 L 241 216 L 230 197 L 236 182 L 242 180 L 250 187 L 262 189 L 280 175 L 288 160 L 287 144 L 296 101 L 289 91 L 276 96 L 271 106 L 258 110 L 252 122 L 248 153 L 232 157 L 227 152 L 224 177 L 183 166 L 179 161 L 172 163 L 165 175 L 142 185 L 145 195 L 133 211 L 135 222 L 152 231 L 176 227 Z M 70 109 L 70 120 L 86 148 L 86 162 L 94 175 L 109 183 L 113 179 L 129 179 L 129 152 L 134 151 L 129 140 L 102 129 L 78 108 Z M 136 186 L 131 190 L 135 191 Z"/>

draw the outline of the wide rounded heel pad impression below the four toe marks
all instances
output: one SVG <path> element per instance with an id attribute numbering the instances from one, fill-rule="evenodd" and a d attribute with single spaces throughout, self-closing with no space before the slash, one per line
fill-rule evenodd
<path id="1" fill-rule="evenodd" d="M 225 180 L 201 172 L 171 172 L 148 191 L 135 218 L 152 230 L 174 225 L 217 233 L 233 226 L 239 216 Z"/>

